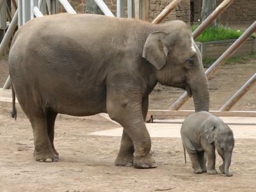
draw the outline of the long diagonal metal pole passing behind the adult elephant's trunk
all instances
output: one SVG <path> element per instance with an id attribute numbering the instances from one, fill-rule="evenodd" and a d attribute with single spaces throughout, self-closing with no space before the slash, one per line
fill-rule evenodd
<path id="1" fill-rule="evenodd" d="M 227 51 L 225 51 L 220 58 L 218 58 L 217 61 L 215 61 L 211 67 L 208 68 L 208 70 L 205 72 L 205 75 L 209 79 L 218 68 L 225 63 L 225 61 L 230 58 L 234 54 L 234 52 L 241 47 L 241 45 L 244 44 L 244 42 L 256 31 L 256 21 L 253 22 L 253 24 L 244 31 L 243 35 L 241 35 L 234 44 L 232 44 Z M 170 108 L 169 110 L 178 110 L 184 102 L 186 102 L 189 99 L 188 93 L 185 92 Z"/>

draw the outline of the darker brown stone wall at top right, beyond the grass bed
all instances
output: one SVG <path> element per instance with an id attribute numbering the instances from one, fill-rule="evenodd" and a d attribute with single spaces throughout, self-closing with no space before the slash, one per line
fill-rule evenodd
<path id="1" fill-rule="evenodd" d="M 217 0 L 217 6 L 222 0 Z M 194 0 L 195 20 L 201 19 L 202 0 Z M 218 19 L 221 23 L 253 22 L 256 20 L 256 0 L 236 0 Z"/>

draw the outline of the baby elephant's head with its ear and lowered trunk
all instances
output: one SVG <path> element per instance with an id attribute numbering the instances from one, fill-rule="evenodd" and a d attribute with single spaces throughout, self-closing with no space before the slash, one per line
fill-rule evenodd
<path id="1" fill-rule="evenodd" d="M 231 164 L 235 141 L 230 127 L 226 124 L 210 127 L 209 129 L 205 129 L 205 136 L 208 143 L 214 143 L 218 154 L 223 159 L 220 171 L 227 176 L 232 176 L 232 173 L 229 172 L 229 166 Z"/>

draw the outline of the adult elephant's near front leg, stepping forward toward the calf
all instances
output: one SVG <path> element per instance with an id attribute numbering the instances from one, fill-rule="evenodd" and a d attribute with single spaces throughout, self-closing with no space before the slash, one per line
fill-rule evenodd
<path id="1" fill-rule="evenodd" d="M 124 86 L 122 86 L 123 88 Z M 156 162 L 150 156 L 151 140 L 148 134 L 142 108 L 140 94 L 136 97 L 134 92 L 125 92 L 108 87 L 107 110 L 109 116 L 124 127 L 124 134 L 120 149 L 132 152 L 131 140 L 134 145 L 133 165 L 136 168 L 154 168 Z M 129 140 L 131 138 L 131 140 Z M 123 143 L 127 141 L 127 143 Z M 128 145 L 127 145 L 128 144 Z M 121 152 L 124 155 L 124 152 Z M 118 155 L 120 156 L 120 154 Z M 128 157 L 128 156 L 126 156 Z M 121 164 L 122 165 L 122 164 Z"/>

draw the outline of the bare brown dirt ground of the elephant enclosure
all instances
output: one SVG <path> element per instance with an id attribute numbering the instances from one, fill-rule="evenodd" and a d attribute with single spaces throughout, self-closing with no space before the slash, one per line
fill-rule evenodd
<path id="1" fill-rule="evenodd" d="M 0 84 L 7 77 L 6 62 L 0 63 Z M 210 80 L 211 109 L 219 109 L 237 88 L 256 71 L 256 60 L 225 65 Z M 150 95 L 150 109 L 168 109 L 184 91 L 157 85 Z M 256 110 L 256 86 L 233 110 Z M 191 100 L 182 109 L 193 109 Z M 256 191 L 256 140 L 237 139 L 230 169 L 223 174 L 196 175 L 184 164 L 180 138 L 152 138 L 157 168 L 138 170 L 114 166 L 120 137 L 92 136 L 93 131 L 118 125 L 99 115 L 56 120 L 56 163 L 33 159 L 33 133 L 21 113 L 17 120 L 0 111 L 0 191 Z M 170 124 L 171 127 L 171 124 Z M 221 164 L 217 156 L 216 168 Z"/>

